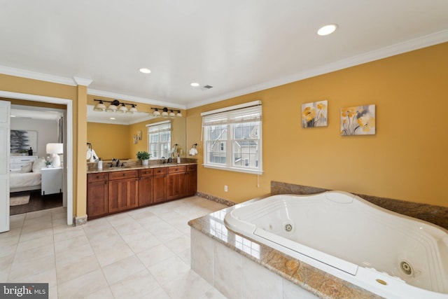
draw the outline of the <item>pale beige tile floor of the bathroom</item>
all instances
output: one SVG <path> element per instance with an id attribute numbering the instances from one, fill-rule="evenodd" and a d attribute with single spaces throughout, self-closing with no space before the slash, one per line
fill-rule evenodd
<path id="1" fill-rule="evenodd" d="M 223 209 L 188 197 L 65 225 L 65 209 L 10 217 L 0 281 L 48 282 L 50 298 L 225 298 L 190 270 L 188 221 Z"/>

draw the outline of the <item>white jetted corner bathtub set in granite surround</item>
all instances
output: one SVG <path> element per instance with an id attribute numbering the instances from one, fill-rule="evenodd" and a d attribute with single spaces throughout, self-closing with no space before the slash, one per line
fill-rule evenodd
<path id="1" fill-rule="evenodd" d="M 448 231 L 351 193 L 273 195 L 224 222 L 385 298 L 448 298 Z"/>

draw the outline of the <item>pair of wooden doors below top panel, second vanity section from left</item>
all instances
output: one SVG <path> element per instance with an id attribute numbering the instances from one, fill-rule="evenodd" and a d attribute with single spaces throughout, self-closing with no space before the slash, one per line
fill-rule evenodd
<path id="1" fill-rule="evenodd" d="M 139 179 L 109 181 L 109 213 L 138 207 L 138 196 Z"/>

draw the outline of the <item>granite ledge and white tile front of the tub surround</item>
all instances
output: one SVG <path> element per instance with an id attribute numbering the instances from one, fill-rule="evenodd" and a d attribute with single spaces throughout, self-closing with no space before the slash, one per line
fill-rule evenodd
<path id="1" fill-rule="evenodd" d="M 276 249 L 228 230 L 224 224 L 225 214 L 246 204 L 248 202 L 188 222 L 191 226 L 191 267 L 225 296 L 381 298 Z"/>

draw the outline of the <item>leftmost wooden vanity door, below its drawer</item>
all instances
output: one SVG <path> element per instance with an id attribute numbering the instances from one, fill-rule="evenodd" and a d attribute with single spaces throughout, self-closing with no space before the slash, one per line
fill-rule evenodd
<path id="1" fill-rule="evenodd" d="M 109 213 L 107 181 L 87 183 L 87 216 L 89 219 Z"/>

